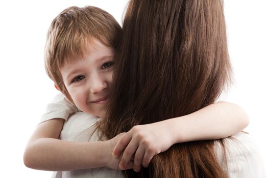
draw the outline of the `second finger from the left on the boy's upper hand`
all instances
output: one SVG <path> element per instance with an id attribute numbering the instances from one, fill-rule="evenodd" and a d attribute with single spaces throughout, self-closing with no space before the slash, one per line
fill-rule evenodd
<path id="1" fill-rule="evenodd" d="M 121 158 L 121 161 L 119 163 L 119 167 L 121 169 L 125 169 L 128 162 L 130 162 L 132 155 L 136 152 L 137 147 L 138 147 L 138 144 L 132 139 L 130 143 L 128 144 L 128 146 L 126 147 L 123 153 L 123 156 Z"/>

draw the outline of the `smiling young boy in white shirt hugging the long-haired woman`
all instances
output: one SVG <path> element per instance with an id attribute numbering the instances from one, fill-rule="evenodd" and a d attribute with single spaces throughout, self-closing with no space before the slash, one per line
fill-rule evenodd
<path id="1" fill-rule="evenodd" d="M 139 129 L 132 129 L 108 141 L 99 141 L 95 135 L 90 142 L 72 142 L 77 141 L 77 135 L 83 134 L 79 130 L 86 130 L 98 123 L 99 117 L 105 116 L 113 65 L 116 62 L 113 56 L 121 33 L 115 19 L 95 7 L 70 7 L 53 20 L 45 48 L 46 72 L 65 97 L 57 96 L 48 105 L 26 147 L 26 166 L 54 171 L 105 166 L 117 170 L 118 156 L 127 147 L 128 154 L 123 154 L 119 169 L 133 168 L 139 171 L 141 165 L 148 166 L 152 159 L 144 155 L 139 161 L 131 161 L 139 145 L 151 152 L 149 155 L 155 155 L 174 143 L 224 138 L 248 125 L 248 116 L 239 106 L 218 102 L 186 116 L 139 126 Z M 83 112 L 70 116 L 79 110 Z M 64 124 L 69 116 L 72 119 L 69 118 Z M 86 120 L 90 120 L 89 125 L 84 124 Z M 146 133 L 150 139 L 138 141 L 144 139 L 135 136 L 139 135 L 141 128 L 148 131 Z M 128 145 L 130 140 L 120 139 L 124 135 L 130 136 L 135 145 Z M 157 139 L 159 136 L 161 139 Z M 160 141 L 151 149 L 155 140 Z"/>

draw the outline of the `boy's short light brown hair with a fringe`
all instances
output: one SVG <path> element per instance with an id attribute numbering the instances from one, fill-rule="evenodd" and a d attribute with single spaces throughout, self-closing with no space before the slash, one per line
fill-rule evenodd
<path id="1" fill-rule="evenodd" d="M 45 70 L 58 89 L 72 101 L 60 73 L 66 63 L 83 58 L 94 40 L 114 49 L 122 29 L 108 12 L 93 6 L 69 7 L 51 23 L 45 45 Z"/>

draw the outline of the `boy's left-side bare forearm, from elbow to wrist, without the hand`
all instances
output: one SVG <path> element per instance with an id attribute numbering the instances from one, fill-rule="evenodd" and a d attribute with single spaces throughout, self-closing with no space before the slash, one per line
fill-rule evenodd
<path id="1" fill-rule="evenodd" d="M 103 141 L 75 143 L 39 138 L 28 145 L 24 161 L 39 170 L 66 171 L 105 166 Z"/>

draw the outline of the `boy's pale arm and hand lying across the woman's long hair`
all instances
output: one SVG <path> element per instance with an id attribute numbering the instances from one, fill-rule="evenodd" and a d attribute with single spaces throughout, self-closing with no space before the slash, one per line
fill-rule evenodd
<path id="1" fill-rule="evenodd" d="M 175 143 L 211 140 L 233 135 L 249 124 L 245 110 L 228 102 L 218 102 L 196 112 L 165 121 L 134 126 L 116 144 L 113 155 L 125 149 L 119 167 L 123 169 L 134 156 L 135 171 L 147 167 L 154 155 Z"/>

